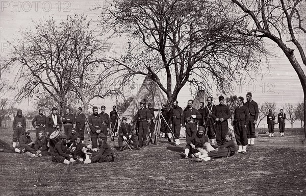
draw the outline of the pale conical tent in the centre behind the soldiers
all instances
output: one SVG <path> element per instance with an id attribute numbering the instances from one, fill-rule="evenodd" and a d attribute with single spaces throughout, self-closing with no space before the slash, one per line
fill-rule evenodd
<path id="1" fill-rule="evenodd" d="M 152 81 L 150 76 L 145 77 L 140 89 L 134 97 L 134 100 L 131 102 L 130 106 L 127 107 L 122 117 L 127 118 L 127 122 L 131 122 L 136 115 L 140 101 L 145 100 L 146 104 L 151 103 L 153 108 L 160 108 L 161 104 L 166 104 L 167 99 L 163 94 L 159 86 Z"/>

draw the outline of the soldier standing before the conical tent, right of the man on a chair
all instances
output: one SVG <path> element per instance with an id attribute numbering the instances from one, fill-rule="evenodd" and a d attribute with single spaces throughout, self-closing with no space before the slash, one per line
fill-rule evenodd
<path id="1" fill-rule="evenodd" d="M 141 148 L 145 148 L 146 138 L 148 135 L 148 123 L 151 122 L 150 116 L 150 111 L 145 107 L 145 101 L 142 100 L 140 102 L 140 109 L 133 120 L 133 122 L 137 120 L 138 141 Z"/>

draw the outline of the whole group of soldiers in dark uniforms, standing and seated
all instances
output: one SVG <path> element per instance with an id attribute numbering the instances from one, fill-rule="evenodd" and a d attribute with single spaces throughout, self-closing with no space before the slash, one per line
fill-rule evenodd
<path id="1" fill-rule="evenodd" d="M 187 145 L 185 152 L 181 154 L 183 158 L 196 155 L 198 158 L 202 156 L 200 158 L 208 160 L 207 157 L 232 156 L 236 150 L 234 150 L 233 142 L 228 144 L 233 138 L 232 134 L 228 133 L 228 119 L 231 118 L 231 111 L 224 103 L 224 96 L 219 96 L 218 100 L 219 104 L 214 105 L 213 97 L 208 96 L 207 104 L 201 102 L 199 109 L 195 109 L 193 100 L 189 100 L 184 110 L 177 101 L 173 101 L 168 109 L 166 105 L 163 105 L 159 110 L 152 108 L 151 103 L 148 103 L 146 108 L 145 100 L 142 100 L 131 124 L 127 124 L 126 117 L 120 118 L 118 116 L 115 106 L 110 115 L 105 112 L 105 106 L 101 106 L 100 113 L 98 113 L 98 108 L 94 106 L 92 108 L 93 114 L 88 118 L 91 137 L 89 145 L 83 144 L 87 119 L 81 107 L 78 108 L 77 115 L 73 115 L 69 109 L 66 109 L 62 117 L 59 117 L 57 108 L 52 108 L 52 113 L 48 117 L 43 115 L 43 110 L 40 109 L 39 114 L 32 120 L 32 125 L 36 129 L 35 142 L 30 138 L 30 132 L 25 130 L 25 118 L 22 111 L 18 110 L 13 121 L 13 145 L 10 146 L 0 140 L 0 151 L 5 149 L 10 152 L 27 152 L 31 157 L 50 154 L 53 161 L 64 164 L 113 161 L 114 156 L 107 143 L 107 136 L 115 134 L 117 127 L 119 127 L 120 151 L 123 150 L 123 142 L 137 150 L 145 148 L 149 143 L 155 144 L 154 140 L 157 134 L 155 124 L 159 119 L 156 118 L 154 112 L 159 111 L 160 137 L 167 137 L 171 141 L 173 136 L 174 145 L 178 146 L 180 145 L 181 129 L 186 132 Z M 237 105 L 233 120 L 238 145 L 237 152 L 246 153 L 247 145 L 254 145 L 255 125 L 259 109 L 258 104 L 252 100 L 250 92 L 246 94 L 245 103 L 242 96 L 238 97 Z M 284 136 L 285 119 L 286 114 L 281 110 L 281 113 L 278 114 L 278 122 L 282 136 Z M 267 115 L 270 137 L 274 136 L 274 120 L 275 116 L 270 110 Z M 136 133 L 133 132 L 132 126 L 135 123 Z M 60 129 L 64 133 L 61 133 Z M 227 148 L 228 151 L 225 151 L 224 148 Z M 208 149 L 215 152 L 207 151 Z M 219 149 L 221 150 L 219 151 Z"/>

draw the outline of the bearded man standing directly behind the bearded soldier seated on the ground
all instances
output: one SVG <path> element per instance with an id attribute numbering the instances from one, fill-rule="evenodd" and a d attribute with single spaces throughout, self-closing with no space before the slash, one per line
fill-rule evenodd
<path id="1" fill-rule="evenodd" d="M 198 119 L 202 116 L 197 109 L 192 107 L 193 100 L 188 100 L 187 108 L 183 111 L 181 124 L 183 125 L 184 131 L 186 131 L 186 141 L 188 141 L 193 135 L 196 134 L 196 125 Z"/>

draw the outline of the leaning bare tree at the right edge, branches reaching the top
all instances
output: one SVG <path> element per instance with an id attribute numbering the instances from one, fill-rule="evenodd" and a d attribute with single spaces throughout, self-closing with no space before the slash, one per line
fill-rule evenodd
<path id="1" fill-rule="evenodd" d="M 303 67 L 306 66 L 305 47 L 302 46 L 306 35 L 305 28 L 305 1 L 303 0 L 262 0 L 262 1 L 242 1 L 232 0 L 243 13 L 238 13 L 244 17 L 245 22 L 251 22 L 245 31 L 241 33 L 251 37 L 268 38 L 275 42 L 288 58 L 291 66 L 296 71 L 300 80 L 303 92 L 304 103 L 306 102 L 306 75 Z M 238 11 L 239 12 L 239 11 Z M 292 42 L 293 46 L 288 46 L 286 42 Z M 296 49 L 296 50 L 295 50 Z M 301 57 L 301 61 L 296 58 Z M 302 64 L 302 65 L 301 65 Z M 303 67 L 302 67 L 303 66 Z M 303 108 L 304 121 L 306 120 L 306 105 Z M 306 127 L 304 128 L 306 141 Z"/>

